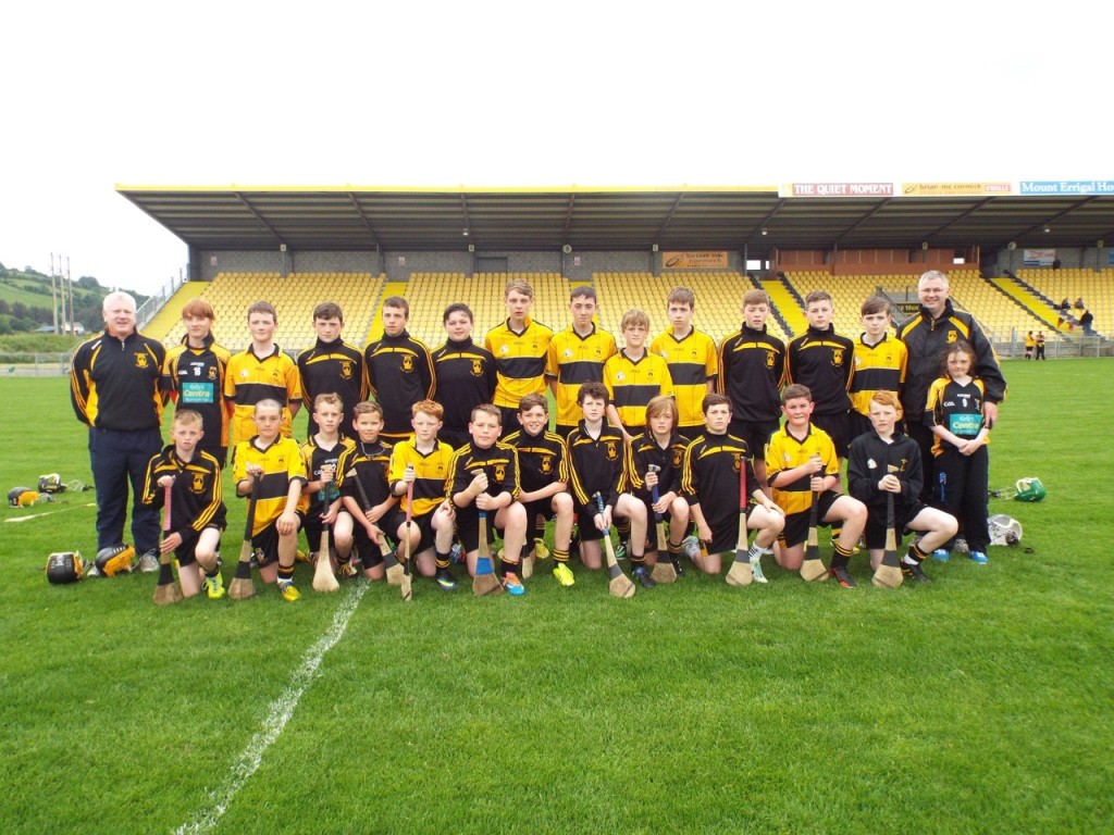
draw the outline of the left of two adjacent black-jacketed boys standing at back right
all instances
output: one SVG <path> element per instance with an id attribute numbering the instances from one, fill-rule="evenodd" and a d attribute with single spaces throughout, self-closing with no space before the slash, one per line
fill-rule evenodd
<path id="1" fill-rule="evenodd" d="M 781 426 L 781 386 L 785 344 L 766 332 L 770 296 L 763 289 L 743 295 L 743 324 L 720 343 L 716 389 L 731 401 L 729 432 L 741 438 L 753 455 L 754 477 L 766 483 L 765 445 Z"/>

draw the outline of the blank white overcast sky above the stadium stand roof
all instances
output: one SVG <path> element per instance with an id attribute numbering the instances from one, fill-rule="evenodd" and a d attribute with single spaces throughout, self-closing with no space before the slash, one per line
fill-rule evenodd
<path id="1" fill-rule="evenodd" d="M 6 4 L 0 263 L 177 275 L 116 184 L 1114 178 L 1102 2 L 381 6 Z"/>

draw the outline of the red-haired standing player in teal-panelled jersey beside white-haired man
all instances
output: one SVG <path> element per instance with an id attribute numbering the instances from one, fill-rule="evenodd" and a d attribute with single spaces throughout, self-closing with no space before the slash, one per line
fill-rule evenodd
<path id="1" fill-rule="evenodd" d="M 213 338 L 216 314 L 204 298 L 192 298 L 182 308 L 186 334 L 182 343 L 166 352 L 163 385 L 178 409 L 202 416 L 206 431 L 199 449 L 224 466 L 228 460 L 228 423 L 232 403 L 224 399 L 224 380 L 232 355 Z"/>

